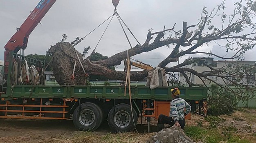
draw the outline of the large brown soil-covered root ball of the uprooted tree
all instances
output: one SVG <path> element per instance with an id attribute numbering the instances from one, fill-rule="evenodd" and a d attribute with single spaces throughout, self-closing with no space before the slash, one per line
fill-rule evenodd
<path id="1" fill-rule="evenodd" d="M 81 71 L 81 65 L 78 60 L 74 71 L 75 78 L 72 79 L 74 63 L 76 61 L 76 49 L 70 47 L 72 47 L 72 44 L 69 42 L 58 42 L 49 49 L 53 55 L 51 64 L 54 76 L 60 85 L 86 85 L 86 77 L 83 71 Z M 76 53 L 80 60 L 83 60 L 82 54 L 79 51 L 76 51 Z"/>

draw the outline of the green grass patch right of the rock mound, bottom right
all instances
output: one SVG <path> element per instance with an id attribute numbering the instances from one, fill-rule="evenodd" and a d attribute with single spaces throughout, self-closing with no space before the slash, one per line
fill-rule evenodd
<path id="1" fill-rule="evenodd" d="M 227 129 L 235 130 L 235 129 Z M 217 129 L 206 130 L 203 127 L 197 126 L 186 126 L 184 132 L 189 136 L 193 141 L 202 141 L 203 143 L 251 143 L 247 139 L 240 139 L 233 132 L 220 132 Z"/>

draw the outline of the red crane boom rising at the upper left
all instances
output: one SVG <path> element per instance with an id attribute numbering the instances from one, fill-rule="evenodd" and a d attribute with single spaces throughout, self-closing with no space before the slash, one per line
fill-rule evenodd
<path id="1" fill-rule="evenodd" d="M 56 2 L 56 0 L 40 0 L 37 4 L 36 8 L 31 11 L 30 15 L 23 22 L 20 28 L 16 28 L 16 33 L 11 37 L 11 39 L 4 46 L 4 72 L 8 73 L 8 56 L 9 51 L 13 51 L 17 53 L 19 50 L 25 50 L 27 47 L 27 42 L 29 35 L 36 28 L 40 20 L 45 16 L 45 14 L 49 11 L 52 5 Z"/>

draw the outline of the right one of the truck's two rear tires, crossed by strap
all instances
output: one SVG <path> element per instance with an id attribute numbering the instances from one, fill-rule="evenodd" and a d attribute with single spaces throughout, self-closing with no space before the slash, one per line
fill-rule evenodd
<path id="1" fill-rule="evenodd" d="M 133 120 L 132 120 L 133 114 Z M 118 104 L 112 107 L 108 113 L 108 125 L 114 132 L 130 132 L 135 129 L 137 125 L 138 116 L 134 108 L 131 108 L 128 104 Z"/>

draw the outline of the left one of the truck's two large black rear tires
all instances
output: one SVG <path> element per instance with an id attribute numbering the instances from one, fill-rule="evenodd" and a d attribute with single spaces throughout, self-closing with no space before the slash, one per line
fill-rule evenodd
<path id="1" fill-rule="evenodd" d="M 102 123 L 101 108 L 94 103 L 83 103 L 76 107 L 73 114 L 73 123 L 78 130 L 95 131 Z"/>

